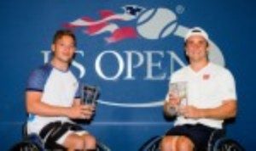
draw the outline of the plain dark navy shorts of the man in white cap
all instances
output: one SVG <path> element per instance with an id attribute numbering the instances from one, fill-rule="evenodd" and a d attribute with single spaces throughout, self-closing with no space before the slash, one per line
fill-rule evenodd
<path id="1" fill-rule="evenodd" d="M 218 129 L 197 125 L 183 125 L 172 127 L 166 132 L 166 136 L 185 136 L 194 143 L 196 151 L 206 151 L 209 139 L 213 131 Z M 221 130 L 220 130 L 221 131 Z"/>

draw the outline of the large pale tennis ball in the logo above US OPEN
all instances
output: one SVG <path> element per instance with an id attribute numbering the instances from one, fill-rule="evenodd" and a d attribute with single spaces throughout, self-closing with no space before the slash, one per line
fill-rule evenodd
<path id="1" fill-rule="evenodd" d="M 137 20 L 137 31 L 146 39 L 169 36 L 177 26 L 177 16 L 167 8 L 149 9 Z"/>

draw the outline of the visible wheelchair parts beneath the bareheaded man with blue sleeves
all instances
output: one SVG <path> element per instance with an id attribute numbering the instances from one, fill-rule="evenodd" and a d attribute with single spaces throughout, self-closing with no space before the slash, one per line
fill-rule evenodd
<path id="1" fill-rule="evenodd" d="M 41 137 L 38 136 L 38 134 L 27 134 L 26 131 L 26 124 L 23 126 L 23 139 L 20 143 L 15 144 L 12 148 L 10 148 L 10 151 L 65 151 L 67 148 L 64 148 L 61 145 L 56 144 L 53 147 L 46 147 L 44 145 L 44 141 L 41 139 Z M 99 140 L 96 140 L 96 151 L 110 151 L 110 148 L 108 148 L 104 143 L 100 142 Z"/>

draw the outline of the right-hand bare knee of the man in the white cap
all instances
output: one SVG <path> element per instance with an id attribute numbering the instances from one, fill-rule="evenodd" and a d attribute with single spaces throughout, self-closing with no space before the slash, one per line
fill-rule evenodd
<path id="1" fill-rule="evenodd" d="M 189 137 L 178 137 L 177 148 L 178 150 L 192 151 L 194 149 L 194 143 L 192 143 Z"/>

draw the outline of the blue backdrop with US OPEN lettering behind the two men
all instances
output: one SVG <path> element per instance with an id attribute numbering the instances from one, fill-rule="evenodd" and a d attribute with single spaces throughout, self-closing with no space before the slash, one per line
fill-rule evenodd
<path id="1" fill-rule="evenodd" d="M 101 89 L 96 116 L 84 127 L 114 151 L 137 150 L 162 135 L 172 121 L 163 117 L 161 100 L 173 70 L 186 64 L 183 34 L 197 25 L 215 46 L 212 61 L 236 78 L 239 108 L 228 136 L 253 150 L 254 7 L 253 0 L 0 1 L 1 150 L 21 139 L 27 76 L 49 60 L 60 28 L 78 37 L 73 68 L 81 81 Z"/>

